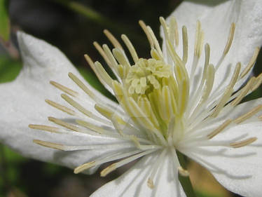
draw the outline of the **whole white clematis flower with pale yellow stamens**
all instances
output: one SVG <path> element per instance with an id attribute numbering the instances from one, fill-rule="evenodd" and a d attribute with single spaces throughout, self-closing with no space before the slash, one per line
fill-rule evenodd
<path id="1" fill-rule="evenodd" d="M 94 43 L 116 80 L 85 58 L 117 102 L 86 83 L 57 48 L 19 32 L 24 67 L 0 86 L 1 141 L 75 173 L 115 161 L 101 171 L 106 176 L 141 158 L 92 196 L 185 196 L 178 175 L 189 172 L 177 151 L 230 191 L 261 196 L 262 100 L 240 102 L 262 82 L 262 75 L 251 76 L 262 43 L 262 3 L 200 2 L 184 1 L 160 18 L 162 49 L 139 22 L 149 58 L 139 57 L 125 35 L 132 60 L 108 31 L 113 50 Z"/>

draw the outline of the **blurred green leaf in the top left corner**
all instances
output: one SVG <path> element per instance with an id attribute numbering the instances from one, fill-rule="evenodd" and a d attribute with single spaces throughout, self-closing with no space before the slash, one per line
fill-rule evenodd
<path id="1" fill-rule="evenodd" d="M 0 37 L 9 40 L 10 21 L 8 17 L 7 0 L 0 0 Z"/>

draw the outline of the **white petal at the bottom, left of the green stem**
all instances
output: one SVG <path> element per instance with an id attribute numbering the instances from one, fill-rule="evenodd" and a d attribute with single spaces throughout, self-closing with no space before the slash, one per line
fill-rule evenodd
<path id="1" fill-rule="evenodd" d="M 175 169 L 172 165 L 171 156 L 166 156 L 164 161 L 159 166 L 156 174 L 156 182 L 154 189 L 150 189 L 147 186 L 147 180 L 150 175 L 150 170 L 153 163 L 156 162 L 158 154 L 154 153 L 149 156 L 144 156 L 141 161 L 137 162 L 130 170 L 121 175 L 118 179 L 115 179 L 100 189 L 95 191 L 91 197 L 102 197 L 102 196 L 186 196 L 179 180 L 174 177 L 173 170 Z M 177 184 L 179 184 L 179 192 L 177 191 Z"/>

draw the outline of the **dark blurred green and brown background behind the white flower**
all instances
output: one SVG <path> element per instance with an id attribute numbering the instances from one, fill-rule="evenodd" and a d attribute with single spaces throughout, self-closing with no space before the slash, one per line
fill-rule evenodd
<path id="1" fill-rule="evenodd" d="M 166 18 L 180 3 L 181 0 L 0 0 L 0 83 L 12 81 L 20 72 L 22 62 L 15 32 L 22 30 L 60 48 L 92 86 L 109 96 L 83 58 L 88 53 L 92 60 L 101 60 L 92 42 L 109 43 L 103 34 L 104 29 L 109 29 L 116 38 L 127 34 L 139 56 L 149 57 L 149 43 L 138 20 L 144 20 L 158 36 L 159 16 Z M 260 55 L 255 75 L 261 73 L 261 65 Z M 246 100 L 256 97 L 261 97 L 261 89 Z M 0 197 L 90 196 L 129 167 L 103 178 L 99 170 L 91 176 L 74 175 L 71 169 L 23 158 L 0 144 Z M 188 169 L 197 196 L 237 196 L 223 189 L 198 164 L 188 161 Z"/>

